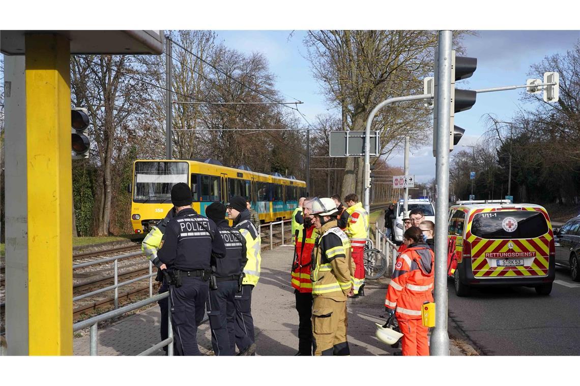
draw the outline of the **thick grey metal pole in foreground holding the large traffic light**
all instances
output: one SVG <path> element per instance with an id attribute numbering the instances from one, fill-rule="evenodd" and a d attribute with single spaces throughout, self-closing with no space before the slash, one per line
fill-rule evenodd
<path id="1" fill-rule="evenodd" d="M 449 210 L 449 125 L 451 115 L 451 31 L 439 31 L 435 207 L 435 328 L 432 355 L 449 355 L 447 334 L 447 212 Z"/>

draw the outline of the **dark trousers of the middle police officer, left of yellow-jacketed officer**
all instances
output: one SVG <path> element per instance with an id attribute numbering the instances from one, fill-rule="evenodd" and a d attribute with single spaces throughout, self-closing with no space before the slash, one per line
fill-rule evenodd
<path id="1" fill-rule="evenodd" d="M 218 289 L 210 289 L 208 302 L 209 326 L 212 329 L 212 347 L 215 355 L 235 355 L 235 304 L 237 280 L 218 282 Z"/>

